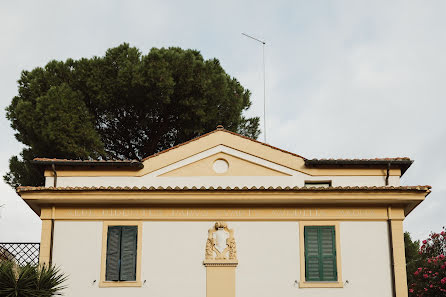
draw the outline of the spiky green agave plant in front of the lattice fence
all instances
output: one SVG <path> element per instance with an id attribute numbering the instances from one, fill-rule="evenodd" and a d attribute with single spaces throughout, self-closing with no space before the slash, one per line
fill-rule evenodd
<path id="1" fill-rule="evenodd" d="M 18 266 L 0 261 L 0 297 L 51 297 L 61 295 L 66 281 L 54 266 Z"/>

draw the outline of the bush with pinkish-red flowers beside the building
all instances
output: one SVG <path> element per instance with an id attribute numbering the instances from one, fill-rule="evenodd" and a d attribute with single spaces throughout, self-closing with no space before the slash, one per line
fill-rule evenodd
<path id="1" fill-rule="evenodd" d="M 446 230 L 431 233 L 423 240 L 419 254 L 421 262 L 412 274 L 409 283 L 410 296 L 446 296 Z"/>

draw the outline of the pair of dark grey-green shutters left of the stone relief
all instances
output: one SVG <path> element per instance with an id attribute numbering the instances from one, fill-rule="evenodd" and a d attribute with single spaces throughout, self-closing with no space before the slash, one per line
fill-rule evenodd
<path id="1" fill-rule="evenodd" d="M 137 226 L 108 227 L 106 281 L 136 281 L 137 241 Z"/>

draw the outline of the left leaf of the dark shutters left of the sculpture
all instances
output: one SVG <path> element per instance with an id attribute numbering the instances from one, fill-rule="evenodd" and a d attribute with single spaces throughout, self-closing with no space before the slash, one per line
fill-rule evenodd
<path id="1" fill-rule="evenodd" d="M 110 226 L 107 231 L 107 255 L 105 280 L 119 281 L 119 261 L 121 258 L 121 227 Z"/>

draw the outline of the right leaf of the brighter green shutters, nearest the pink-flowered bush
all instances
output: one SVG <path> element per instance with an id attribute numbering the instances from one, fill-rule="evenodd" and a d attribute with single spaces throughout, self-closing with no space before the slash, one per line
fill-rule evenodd
<path id="1" fill-rule="evenodd" d="M 321 279 L 324 281 L 337 281 L 336 267 L 336 243 L 335 229 L 333 226 L 319 228 L 320 256 L 321 256 Z"/>

